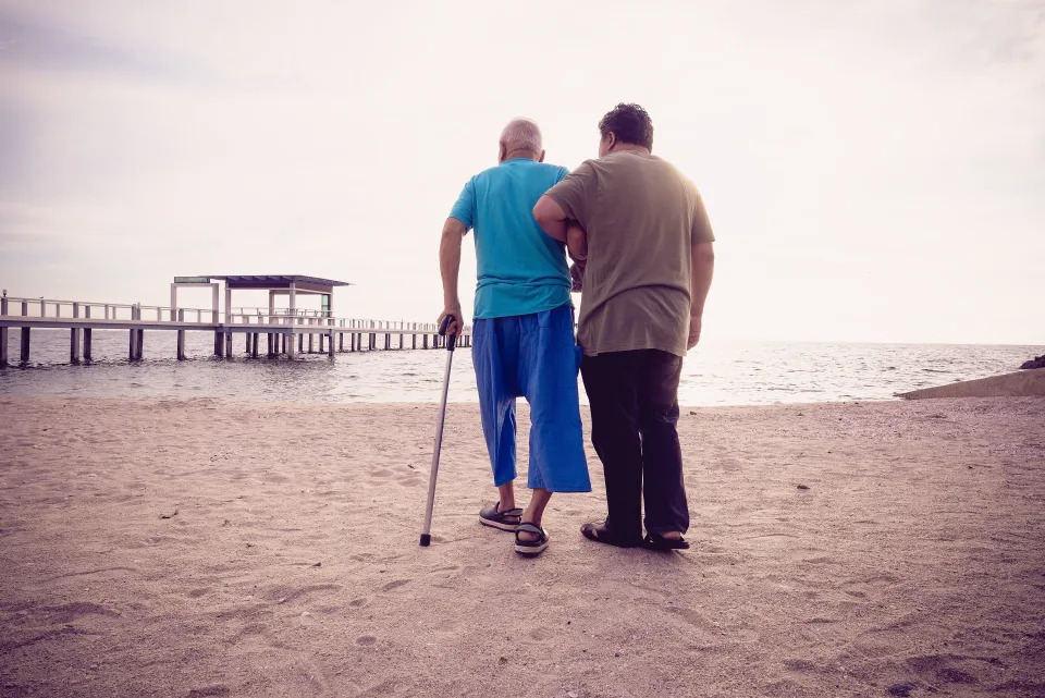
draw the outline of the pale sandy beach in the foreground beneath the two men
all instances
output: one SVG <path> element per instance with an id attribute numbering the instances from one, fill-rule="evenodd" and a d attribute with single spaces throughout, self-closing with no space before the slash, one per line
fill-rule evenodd
<path id="1" fill-rule="evenodd" d="M 1045 400 L 686 409 L 693 549 L 592 456 L 536 560 L 434 413 L 0 396 L 0 696 L 1045 695 Z"/>

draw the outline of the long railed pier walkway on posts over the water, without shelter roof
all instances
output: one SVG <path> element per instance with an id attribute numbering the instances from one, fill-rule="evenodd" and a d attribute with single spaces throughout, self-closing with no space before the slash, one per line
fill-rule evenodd
<path id="1" fill-rule="evenodd" d="M 212 332 L 213 355 L 221 357 L 233 355 L 236 335 L 244 338 L 245 354 L 255 358 L 262 355 L 262 336 L 267 357 L 446 346 L 446 339 L 439 336 L 434 323 L 337 318 L 327 309 L 226 308 L 222 318 L 216 308 L 3 297 L 0 298 L 0 367 L 12 364 L 8 356 L 10 330 L 21 333 L 17 363 L 28 364 L 32 330 L 44 328 L 69 330 L 69 359 L 73 364 L 91 360 L 94 330 L 127 331 L 127 358 L 132 362 L 145 355 L 145 330 L 171 331 L 179 359 L 185 358 L 186 332 Z M 470 346 L 470 328 L 466 328 L 457 341 L 459 346 Z"/>

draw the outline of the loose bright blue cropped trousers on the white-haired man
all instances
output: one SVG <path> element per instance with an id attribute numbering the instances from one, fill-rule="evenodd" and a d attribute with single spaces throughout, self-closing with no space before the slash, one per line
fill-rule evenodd
<path id="1" fill-rule="evenodd" d="M 497 487 L 515 479 L 515 402 L 530 403 L 528 486 L 590 492 L 569 305 L 533 315 L 476 320 L 472 363 L 482 433 Z"/>

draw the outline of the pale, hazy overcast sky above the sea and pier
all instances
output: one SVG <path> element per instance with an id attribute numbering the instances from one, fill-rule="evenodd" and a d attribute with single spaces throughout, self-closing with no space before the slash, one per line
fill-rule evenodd
<path id="1" fill-rule="evenodd" d="M 618 101 L 708 206 L 705 338 L 1045 341 L 1045 0 L 0 0 L 0 285 L 434 320 L 502 126 L 574 168 Z"/>

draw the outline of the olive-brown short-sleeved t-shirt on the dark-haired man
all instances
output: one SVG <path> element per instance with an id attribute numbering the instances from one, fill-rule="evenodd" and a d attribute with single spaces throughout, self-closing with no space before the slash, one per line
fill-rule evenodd
<path id="1" fill-rule="evenodd" d="M 587 160 L 548 191 L 588 232 L 578 342 L 588 356 L 686 355 L 692 246 L 715 236 L 692 182 L 656 156 Z"/>

